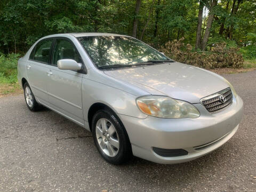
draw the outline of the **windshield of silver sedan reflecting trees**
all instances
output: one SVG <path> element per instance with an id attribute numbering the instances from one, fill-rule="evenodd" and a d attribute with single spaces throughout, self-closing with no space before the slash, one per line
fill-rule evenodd
<path id="1" fill-rule="evenodd" d="M 152 60 L 169 60 L 137 39 L 124 36 L 78 37 L 97 67 L 126 66 Z"/>

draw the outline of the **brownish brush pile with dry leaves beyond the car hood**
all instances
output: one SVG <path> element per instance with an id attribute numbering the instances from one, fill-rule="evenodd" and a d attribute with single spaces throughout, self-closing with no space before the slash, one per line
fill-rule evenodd
<path id="1" fill-rule="evenodd" d="M 183 41 L 184 38 L 167 42 L 161 47 L 161 51 L 176 61 L 206 69 L 243 67 L 243 56 L 237 47 L 228 48 L 226 43 L 217 43 L 211 51 L 195 51 L 190 44 L 185 45 Z"/>

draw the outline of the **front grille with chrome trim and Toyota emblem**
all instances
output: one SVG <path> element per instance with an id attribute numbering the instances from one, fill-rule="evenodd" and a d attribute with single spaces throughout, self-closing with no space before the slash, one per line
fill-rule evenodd
<path id="1" fill-rule="evenodd" d="M 200 101 L 203 106 L 210 113 L 218 113 L 226 109 L 232 103 L 233 95 L 230 87 L 225 90 L 219 91 L 212 95 L 209 95 L 205 98 L 202 98 Z"/>

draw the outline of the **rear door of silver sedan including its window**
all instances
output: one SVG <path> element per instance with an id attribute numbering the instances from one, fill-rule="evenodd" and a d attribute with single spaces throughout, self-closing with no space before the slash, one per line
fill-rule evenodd
<path id="1" fill-rule="evenodd" d="M 31 90 L 35 97 L 43 103 L 48 100 L 46 81 L 52 43 L 53 38 L 43 39 L 38 42 L 31 52 L 26 65 L 28 83 Z"/>

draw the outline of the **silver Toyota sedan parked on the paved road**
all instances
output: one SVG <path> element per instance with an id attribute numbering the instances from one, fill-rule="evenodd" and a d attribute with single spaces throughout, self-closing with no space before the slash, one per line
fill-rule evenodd
<path id="1" fill-rule="evenodd" d="M 225 78 L 125 35 L 43 37 L 19 59 L 18 81 L 31 111 L 45 106 L 91 131 L 113 164 L 193 160 L 227 142 L 243 116 Z"/>

